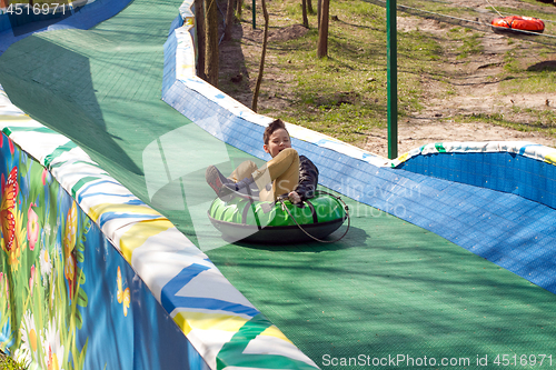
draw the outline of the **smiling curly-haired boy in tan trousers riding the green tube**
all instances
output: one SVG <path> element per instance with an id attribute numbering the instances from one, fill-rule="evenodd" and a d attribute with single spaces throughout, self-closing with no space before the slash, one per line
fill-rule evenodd
<path id="1" fill-rule="evenodd" d="M 235 193 L 245 196 L 254 189 L 262 201 L 276 201 L 286 194 L 292 203 L 300 203 L 315 197 L 318 169 L 291 148 L 284 121 L 272 121 L 266 128 L 262 140 L 262 148 L 272 159 L 260 169 L 254 161 L 245 161 L 226 178 L 215 166 L 207 168 L 205 178 L 217 196 L 229 200 Z"/>

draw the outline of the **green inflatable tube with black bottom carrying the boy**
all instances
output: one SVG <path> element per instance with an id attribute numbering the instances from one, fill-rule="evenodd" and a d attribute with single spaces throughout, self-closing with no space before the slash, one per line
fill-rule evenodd
<path id="1" fill-rule="evenodd" d="M 225 202 L 217 198 L 210 204 L 208 217 L 226 240 L 284 244 L 322 239 L 344 223 L 347 213 L 339 198 L 318 193 L 302 206 L 288 200 L 264 202 L 234 198 Z"/>

